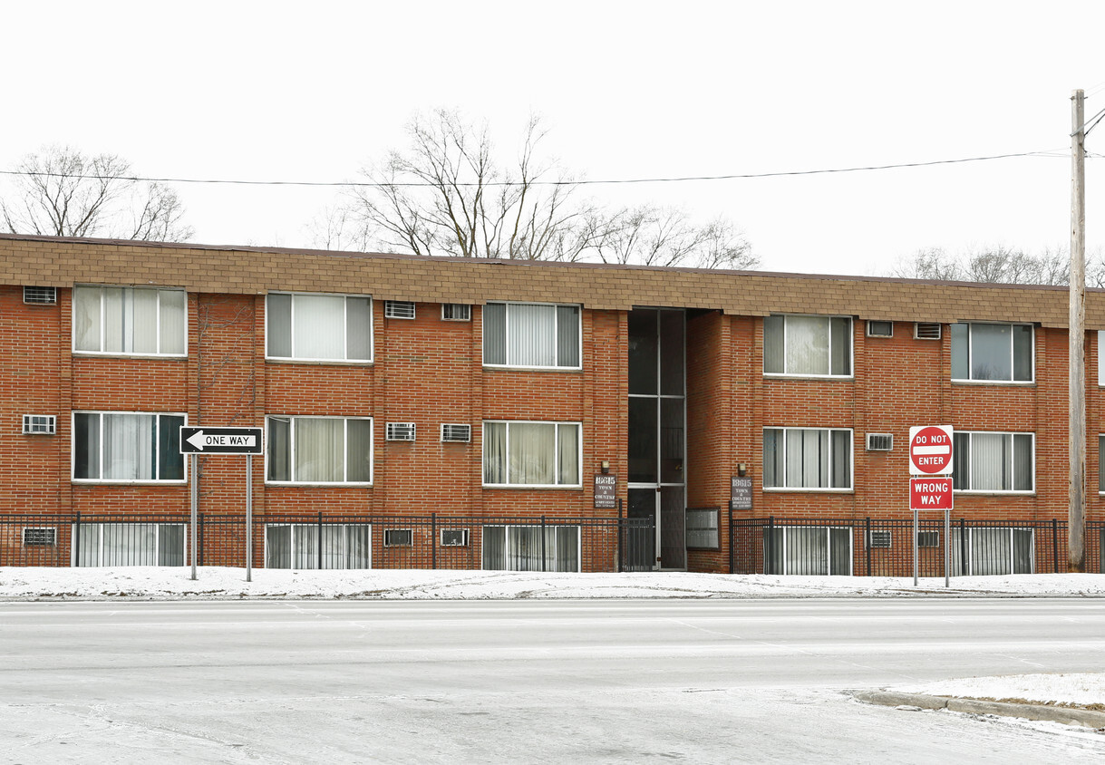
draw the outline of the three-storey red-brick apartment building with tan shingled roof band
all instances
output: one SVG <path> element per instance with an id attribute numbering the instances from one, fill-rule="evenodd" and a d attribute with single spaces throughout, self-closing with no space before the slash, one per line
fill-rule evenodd
<path id="1" fill-rule="evenodd" d="M 1046 286 L 0 235 L 0 565 L 185 563 L 187 423 L 265 429 L 257 565 L 870 574 L 940 423 L 959 570 L 1051 570 L 1066 322 Z M 1105 294 L 1086 326 L 1099 556 Z M 244 472 L 200 460 L 209 562 Z M 619 517 L 655 521 L 629 562 Z"/>

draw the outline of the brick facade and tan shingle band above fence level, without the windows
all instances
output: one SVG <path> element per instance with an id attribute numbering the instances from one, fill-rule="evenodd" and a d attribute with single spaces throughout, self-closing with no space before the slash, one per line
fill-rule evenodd
<path id="1" fill-rule="evenodd" d="M 262 427 L 266 416 L 372 418 L 370 485 L 274 485 L 253 461 L 254 512 L 451 517 L 613 517 L 596 510 L 591 476 L 603 461 L 628 485 L 629 310 L 686 308 L 686 504 L 719 507 L 719 549 L 691 549 L 692 570 L 728 570 L 729 479 L 754 479 L 754 509 L 737 517 L 901 518 L 908 515 L 911 426 L 1034 433 L 1030 493 L 957 493 L 956 516 L 1048 521 L 1067 503 L 1066 292 L 843 276 L 704 272 L 220 249 L 97 240 L 0 237 L 0 516 L 179 514 L 186 482 L 73 480 L 73 412 L 182 412 L 189 425 Z M 73 352 L 73 285 L 164 285 L 188 292 L 185 357 Z M 25 304 L 23 285 L 57 287 L 54 305 Z M 372 295 L 371 363 L 266 359 L 265 293 Z M 415 302 L 413 319 L 385 316 L 385 300 Z M 582 306 L 581 369 L 485 367 L 487 301 Z M 443 321 L 442 302 L 473 305 L 471 321 Z M 764 374 L 764 317 L 852 317 L 852 375 Z M 869 337 L 865 319 L 893 322 Z M 951 381 L 949 324 L 1031 323 L 1034 380 Z M 938 340 L 915 339 L 913 322 L 938 322 Z M 1087 518 L 1101 521 L 1097 335 L 1105 295 L 1087 294 Z M 54 436 L 25 436 L 23 415 L 54 415 Z M 483 485 L 482 422 L 579 422 L 582 486 Z M 388 422 L 414 422 L 413 442 L 387 441 Z M 470 443 L 445 443 L 442 423 L 472 426 Z M 848 429 L 852 488 L 766 489 L 765 428 Z M 892 433 L 888 452 L 866 433 Z M 241 460 L 200 459 L 203 512 L 242 512 Z M 18 539 L 0 539 L 17 545 Z M 260 558 L 259 558 L 260 560 Z"/>

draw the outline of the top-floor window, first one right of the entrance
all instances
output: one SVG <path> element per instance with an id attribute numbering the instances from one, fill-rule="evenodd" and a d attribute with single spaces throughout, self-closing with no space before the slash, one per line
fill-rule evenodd
<path id="1" fill-rule="evenodd" d="M 846 316 L 768 316 L 764 374 L 852 376 L 852 319 Z"/>

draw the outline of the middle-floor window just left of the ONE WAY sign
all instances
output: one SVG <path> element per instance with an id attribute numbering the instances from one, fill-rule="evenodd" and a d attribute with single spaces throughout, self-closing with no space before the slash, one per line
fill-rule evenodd
<path id="1" fill-rule="evenodd" d="M 185 481 L 182 413 L 73 412 L 73 480 L 109 483 Z"/>

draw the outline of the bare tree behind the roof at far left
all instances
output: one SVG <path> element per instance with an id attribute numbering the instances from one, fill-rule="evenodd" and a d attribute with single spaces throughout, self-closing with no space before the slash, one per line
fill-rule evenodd
<path id="1" fill-rule="evenodd" d="M 12 233 L 186 241 L 183 206 L 164 184 L 134 179 L 130 164 L 112 154 L 88 157 L 49 146 L 17 166 L 13 191 L 0 198 Z"/>

